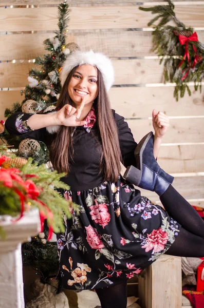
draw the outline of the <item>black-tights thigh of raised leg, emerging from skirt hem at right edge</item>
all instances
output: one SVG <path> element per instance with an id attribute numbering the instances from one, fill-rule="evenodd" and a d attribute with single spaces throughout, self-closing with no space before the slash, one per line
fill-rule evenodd
<path id="1" fill-rule="evenodd" d="M 166 254 L 178 257 L 204 257 L 204 238 L 181 227 L 179 235 Z"/>

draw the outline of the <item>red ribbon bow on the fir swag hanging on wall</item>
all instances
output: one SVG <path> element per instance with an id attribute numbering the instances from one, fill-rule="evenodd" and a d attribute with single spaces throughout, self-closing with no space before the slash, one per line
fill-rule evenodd
<path id="1" fill-rule="evenodd" d="M 189 49 L 188 49 L 188 47 L 189 47 L 189 42 L 190 42 L 190 41 L 191 41 L 191 42 L 198 42 L 198 36 L 197 36 L 197 33 L 196 33 L 196 32 L 194 32 L 193 34 L 191 34 L 191 35 L 188 36 L 188 37 L 185 36 L 185 35 L 181 35 L 181 34 L 180 34 L 180 35 L 178 36 L 178 39 L 179 39 L 179 42 L 180 42 L 181 45 L 186 44 L 186 46 L 185 46 L 185 53 L 184 53 L 183 59 L 182 59 L 182 61 L 181 61 L 181 62 L 179 63 L 179 65 L 178 65 L 178 67 L 180 67 L 180 66 L 183 64 L 183 62 L 184 62 L 184 60 L 186 59 L 186 57 L 187 57 L 187 59 L 188 59 L 188 62 L 190 62 Z M 193 45 L 193 49 L 194 49 L 194 51 L 195 51 L 195 53 L 196 53 L 196 56 L 195 56 L 195 59 L 194 59 L 192 68 L 194 68 L 194 66 L 196 65 L 197 60 L 198 60 L 197 49 L 196 49 L 196 47 L 195 47 L 194 45 Z M 190 69 L 188 69 L 187 73 L 181 78 L 181 80 L 184 80 L 184 79 L 188 76 L 189 70 L 190 70 Z"/>

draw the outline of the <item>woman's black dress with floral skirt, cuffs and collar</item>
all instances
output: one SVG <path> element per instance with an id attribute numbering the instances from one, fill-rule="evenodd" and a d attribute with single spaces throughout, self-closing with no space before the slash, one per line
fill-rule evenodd
<path id="1" fill-rule="evenodd" d="M 15 113 L 6 129 L 15 135 L 43 141 L 49 148 L 54 134 L 46 128 L 29 130 L 32 114 Z M 124 118 L 114 112 L 124 166 L 135 165 L 134 141 Z M 116 183 L 99 175 L 101 143 L 91 109 L 89 127 L 73 133 L 74 163 L 62 180 L 70 185 L 64 198 L 80 205 L 80 215 L 71 209 L 64 218 L 65 233 L 58 234 L 62 285 L 87 290 L 114 285 L 132 278 L 165 253 L 175 241 L 180 225 L 159 205 L 140 195 L 120 175 Z"/>

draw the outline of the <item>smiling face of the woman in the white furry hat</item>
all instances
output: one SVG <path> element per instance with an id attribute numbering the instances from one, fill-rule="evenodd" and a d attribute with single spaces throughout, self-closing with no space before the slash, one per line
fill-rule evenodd
<path id="1" fill-rule="evenodd" d="M 81 104 L 82 98 L 85 105 L 93 103 L 98 95 L 98 72 L 96 67 L 84 64 L 77 67 L 68 85 L 68 94 L 77 105 Z"/>

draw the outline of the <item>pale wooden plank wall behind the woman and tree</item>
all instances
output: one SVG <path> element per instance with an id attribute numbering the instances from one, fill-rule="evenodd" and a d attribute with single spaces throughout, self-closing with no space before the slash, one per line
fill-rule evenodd
<path id="1" fill-rule="evenodd" d="M 0 1 L 1 119 L 6 107 L 23 99 L 20 89 L 27 84 L 29 69 L 34 66 L 29 60 L 46 53 L 43 41 L 53 37 L 57 29 L 59 3 Z M 140 11 L 137 0 L 70 0 L 69 4 L 67 43 L 76 42 L 82 50 L 91 48 L 112 58 L 116 78 L 110 100 L 113 108 L 127 119 L 136 141 L 152 130 L 153 108 L 170 116 L 171 127 L 158 161 L 175 175 L 174 184 L 181 194 L 192 204 L 204 207 L 204 90 L 195 92 L 192 86 L 191 97 L 185 95 L 175 101 L 174 87 L 164 86 L 162 66 L 151 50 L 152 30 L 147 28 L 147 22 L 152 15 Z M 155 4 L 149 0 L 142 5 Z M 182 22 L 195 28 L 203 42 L 204 1 L 175 1 L 175 11 Z M 11 63 L 13 60 L 18 61 Z M 144 195 L 159 201 L 152 192 L 144 191 Z"/>

